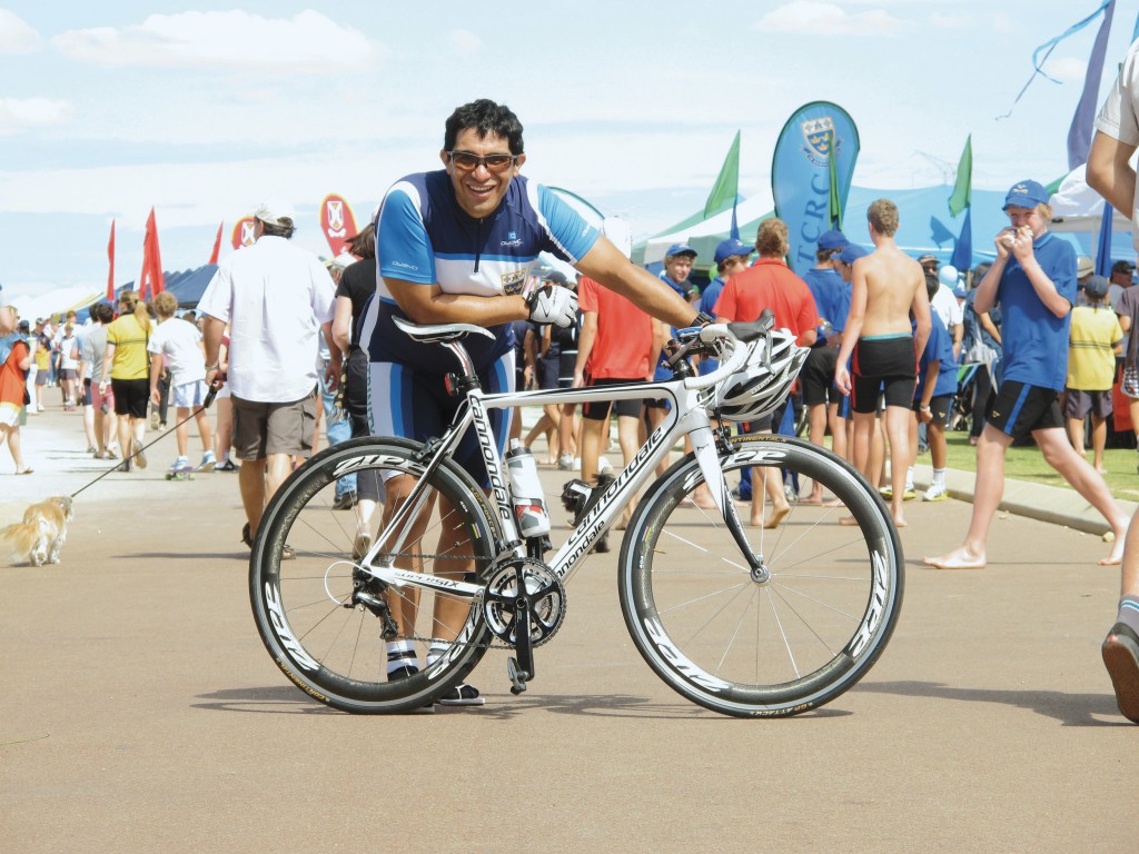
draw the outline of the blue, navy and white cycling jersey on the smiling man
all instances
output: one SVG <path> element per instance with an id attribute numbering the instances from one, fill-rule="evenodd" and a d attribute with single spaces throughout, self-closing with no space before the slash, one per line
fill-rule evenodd
<path id="1" fill-rule="evenodd" d="M 498 210 L 484 220 L 458 204 L 445 170 L 408 175 L 387 191 L 376 227 L 378 296 L 368 352 L 374 362 L 402 362 L 425 371 L 454 370 L 441 347 L 417 344 L 392 317 L 404 318 L 385 278 L 439 282 L 444 294 L 508 296 L 522 293 L 540 252 L 571 264 L 592 248 L 600 232 L 544 187 L 522 175 L 510 181 Z M 485 368 L 514 346 L 509 323 L 491 327 L 495 340 L 467 338 L 476 368 Z"/>

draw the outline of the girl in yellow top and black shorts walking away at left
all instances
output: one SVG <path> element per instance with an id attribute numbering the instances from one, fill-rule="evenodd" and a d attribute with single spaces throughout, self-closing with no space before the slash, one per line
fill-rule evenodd
<path id="1" fill-rule="evenodd" d="M 109 385 L 115 393 L 118 417 L 118 447 L 122 468 L 131 470 L 131 459 L 146 468 L 142 437 L 146 435 L 147 404 L 150 401 L 150 358 L 147 342 L 153 323 L 146 303 L 132 291 L 118 297 L 118 318 L 107 327 L 107 350 L 103 356 L 103 379 L 99 388 Z"/>

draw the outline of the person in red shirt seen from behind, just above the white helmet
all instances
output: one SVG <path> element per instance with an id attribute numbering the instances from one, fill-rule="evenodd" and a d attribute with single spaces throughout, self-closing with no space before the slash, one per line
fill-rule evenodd
<path id="1" fill-rule="evenodd" d="M 801 347 L 810 347 L 818 335 L 819 311 L 806 282 L 788 266 L 785 257 L 788 251 L 787 223 L 772 217 L 760 223 L 755 235 L 759 261 L 741 273 L 736 273 L 720 293 L 715 304 L 720 322 L 748 322 L 757 320 L 764 309 L 776 315 L 777 329 L 789 329 L 797 336 Z M 782 420 L 787 402 L 770 416 L 749 425 L 752 433 L 771 433 L 771 425 Z M 790 512 L 790 504 L 784 495 L 782 483 L 768 477 L 764 490 L 771 501 L 771 518 L 763 522 L 762 491 L 756 481 L 763 468 L 752 469 L 752 524 L 775 528 Z"/>

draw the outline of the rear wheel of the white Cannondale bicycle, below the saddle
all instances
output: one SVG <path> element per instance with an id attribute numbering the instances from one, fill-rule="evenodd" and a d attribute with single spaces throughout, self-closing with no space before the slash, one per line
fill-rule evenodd
<path id="1" fill-rule="evenodd" d="M 286 479 L 262 517 L 249 558 L 257 631 L 285 675 L 334 708 L 429 705 L 486 649 L 489 631 L 474 599 L 387 585 L 360 565 L 392 512 L 385 485 L 410 475 L 426 488 L 412 495 L 417 510 L 405 529 L 384 544 L 395 567 L 473 581 L 489 566 L 499 536 L 482 491 L 450 460 L 424 479 L 421 449 L 383 437 L 333 445 Z M 358 494 L 371 479 L 382 502 L 336 509 L 336 481 L 347 474 L 357 476 Z M 403 678 L 390 679 L 396 667 Z"/>

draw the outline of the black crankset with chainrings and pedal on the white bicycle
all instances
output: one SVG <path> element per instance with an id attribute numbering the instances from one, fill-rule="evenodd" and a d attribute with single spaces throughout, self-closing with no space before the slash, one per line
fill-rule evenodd
<path id="1" fill-rule="evenodd" d="M 565 585 L 542 561 L 511 557 L 487 572 L 483 616 L 491 633 L 518 654 L 507 663 L 513 693 L 526 690 L 534 678 L 533 650 L 555 635 L 565 613 Z"/>

